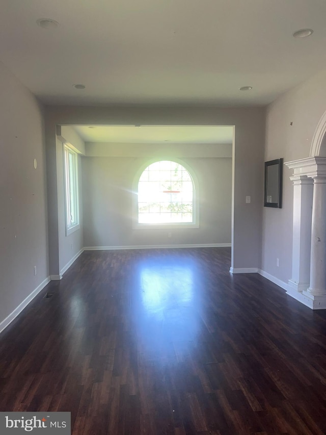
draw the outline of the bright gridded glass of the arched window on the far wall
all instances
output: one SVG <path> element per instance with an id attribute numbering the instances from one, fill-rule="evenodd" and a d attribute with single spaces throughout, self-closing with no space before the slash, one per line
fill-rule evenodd
<path id="1" fill-rule="evenodd" d="M 170 160 L 147 166 L 138 182 L 138 223 L 195 223 L 194 182 L 184 166 Z"/>

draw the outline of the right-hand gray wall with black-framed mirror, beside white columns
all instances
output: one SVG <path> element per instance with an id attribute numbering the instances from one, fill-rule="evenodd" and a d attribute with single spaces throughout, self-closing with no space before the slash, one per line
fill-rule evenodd
<path id="1" fill-rule="evenodd" d="M 325 110 L 326 71 L 277 98 L 267 107 L 265 160 L 283 157 L 288 162 L 309 157 L 315 129 Z M 283 208 L 263 209 L 261 269 L 284 283 L 292 275 L 292 173 L 284 165 Z"/>

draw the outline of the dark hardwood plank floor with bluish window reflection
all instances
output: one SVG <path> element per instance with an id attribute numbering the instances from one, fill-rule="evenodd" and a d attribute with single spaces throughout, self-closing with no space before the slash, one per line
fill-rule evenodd
<path id="1" fill-rule="evenodd" d="M 229 267 L 229 248 L 84 252 L 1 334 L 0 411 L 70 411 L 74 435 L 324 435 L 326 312 Z"/>

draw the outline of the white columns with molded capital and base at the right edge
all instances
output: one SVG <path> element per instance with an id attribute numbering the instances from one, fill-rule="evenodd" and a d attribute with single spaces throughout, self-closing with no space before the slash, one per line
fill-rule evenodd
<path id="1" fill-rule="evenodd" d="M 292 278 L 287 293 L 313 310 L 326 309 L 326 158 L 286 165 L 294 169 Z"/>

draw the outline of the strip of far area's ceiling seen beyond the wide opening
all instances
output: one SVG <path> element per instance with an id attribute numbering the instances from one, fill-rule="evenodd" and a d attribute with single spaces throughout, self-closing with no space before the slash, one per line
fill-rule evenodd
<path id="1" fill-rule="evenodd" d="M 232 143 L 232 126 L 198 125 L 78 125 L 85 142 L 111 143 Z"/>

